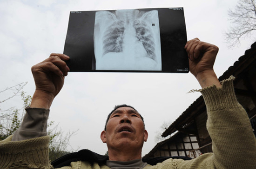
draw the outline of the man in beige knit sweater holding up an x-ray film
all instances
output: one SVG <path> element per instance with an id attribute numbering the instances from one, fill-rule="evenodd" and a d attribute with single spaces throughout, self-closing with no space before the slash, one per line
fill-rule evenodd
<path id="1" fill-rule="evenodd" d="M 207 128 L 213 141 L 213 153 L 206 153 L 188 161 L 170 158 L 156 165 L 143 163 L 141 148 L 148 138 L 143 120 L 133 107 L 121 106 L 110 114 L 106 129 L 101 132 L 101 140 L 108 146 L 109 161 L 75 161 L 64 168 L 254 169 L 256 139 L 247 113 L 236 100 L 232 85 L 234 77 L 220 83 L 213 70 L 218 48 L 195 38 L 188 41 L 185 49 L 189 57 L 190 72 L 203 88 L 201 93 L 207 106 Z M 52 167 L 48 162 L 49 137 L 46 136 L 46 121 L 48 109 L 60 92 L 64 76 L 69 71 L 64 62 L 68 59 L 63 54 L 51 54 L 45 61 L 32 67 L 36 90 L 31 108 L 27 108 L 20 129 L 0 142 L 2 169 Z"/>

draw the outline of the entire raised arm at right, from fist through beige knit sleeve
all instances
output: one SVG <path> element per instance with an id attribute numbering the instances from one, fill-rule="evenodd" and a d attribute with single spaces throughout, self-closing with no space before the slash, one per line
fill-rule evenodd
<path id="1" fill-rule="evenodd" d="M 213 154 L 202 154 L 178 168 L 255 169 L 256 138 L 246 111 L 236 99 L 234 77 L 219 82 L 213 70 L 218 47 L 195 38 L 187 42 L 185 49 L 190 72 L 202 86 Z"/>

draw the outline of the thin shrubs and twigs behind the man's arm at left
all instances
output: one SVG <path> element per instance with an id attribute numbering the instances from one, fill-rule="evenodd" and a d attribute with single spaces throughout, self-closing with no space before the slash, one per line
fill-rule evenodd
<path id="1" fill-rule="evenodd" d="M 25 114 L 25 107 L 29 106 L 32 100 L 32 97 L 30 95 L 26 95 L 22 90 L 26 84 L 27 82 L 23 82 L 0 91 L 0 94 L 10 94 L 10 96 L 8 96 L 6 99 L 0 100 L 0 107 L 3 106 L 3 103 L 11 101 L 16 96 L 20 96 L 21 100 L 23 101 L 23 106 L 20 109 L 16 108 L 16 106 L 11 106 L 10 108 L 4 110 L 0 108 L 0 140 L 12 135 L 13 132 L 16 131 L 21 125 L 23 116 Z M 54 125 L 54 121 L 48 122 L 47 129 L 48 135 L 50 136 L 50 160 L 54 161 L 55 159 L 70 153 L 67 150 L 67 146 L 70 146 L 69 140 L 76 133 L 76 131 L 68 131 L 66 134 L 64 134 L 64 132 L 59 129 L 58 125 Z M 76 151 L 72 147 L 71 150 Z"/>

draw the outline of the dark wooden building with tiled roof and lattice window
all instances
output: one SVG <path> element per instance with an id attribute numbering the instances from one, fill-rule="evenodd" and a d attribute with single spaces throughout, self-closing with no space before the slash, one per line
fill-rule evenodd
<path id="1" fill-rule="evenodd" d="M 237 100 L 247 111 L 255 133 L 256 42 L 251 45 L 251 49 L 246 50 L 245 54 L 219 77 L 219 80 L 227 79 L 230 75 L 236 77 L 234 88 Z M 144 157 L 190 156 L 194 158 L 201 153 L 212 152 L 212 141 L 206 129 L 206 120 L 206 106 L 201 95 L 162 133 L 162 137 L 171 134 L 173 136 L 156 144 Z"/>

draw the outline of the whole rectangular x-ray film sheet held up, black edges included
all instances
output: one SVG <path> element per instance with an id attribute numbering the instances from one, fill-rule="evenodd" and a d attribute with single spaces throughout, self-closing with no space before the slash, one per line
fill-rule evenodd
<path id="1" fill-rule="evenodd" d="M 183 8 L 70 12 L 71 71 L 189 72 Z"/>

